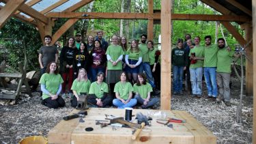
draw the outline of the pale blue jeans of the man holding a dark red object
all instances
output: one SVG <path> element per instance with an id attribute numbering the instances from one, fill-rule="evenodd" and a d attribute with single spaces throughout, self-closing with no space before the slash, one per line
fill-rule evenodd
<path id="1" fill-rule="evenodd" d="M 192 87 L 192 93 L 196 95 L 202 94 L 202 77 L 203 68 L 190 68 L 190 81 Z"/>

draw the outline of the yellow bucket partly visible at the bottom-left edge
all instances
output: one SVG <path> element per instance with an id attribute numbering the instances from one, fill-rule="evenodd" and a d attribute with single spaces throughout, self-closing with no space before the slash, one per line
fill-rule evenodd
<path id="1" fill-rule="evenodd" d="M 47 144 L 48 141 L 44 136 L 28 136 L 20 140 L 18 144 Z"/>

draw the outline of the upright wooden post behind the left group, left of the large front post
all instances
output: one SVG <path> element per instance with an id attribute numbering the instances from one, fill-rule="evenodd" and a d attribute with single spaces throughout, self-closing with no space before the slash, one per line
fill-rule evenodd
<path id="1" fill-rule="evenodd" d="M 148 0 L 148 15 L 149 18 L 147 20 L 147 40 L 153 40 L 153 28 L 154 28 L 154 20 L 153 20 L 153 12 L 154 12 L 154 5 L 153 0 Z"/>

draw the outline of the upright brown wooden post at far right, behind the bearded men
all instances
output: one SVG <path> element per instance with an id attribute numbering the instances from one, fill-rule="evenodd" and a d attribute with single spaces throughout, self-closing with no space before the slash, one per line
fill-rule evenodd
<path id="1" fill-rule="evenodd" d="M 253 30 L 251 27 L 251 23 L 246 23 L 245 25 L 245 40 L 246 42 L 249 42 L 253 38 Z M 248 44 L 248 47 L 246 47 L 246 55 L 250 59 L 253 59 L 253 44 Z M 252 95 L 253 94 L 253 63 L 251 61 L 248 61 L 246 59 L 246 95 Z"/>

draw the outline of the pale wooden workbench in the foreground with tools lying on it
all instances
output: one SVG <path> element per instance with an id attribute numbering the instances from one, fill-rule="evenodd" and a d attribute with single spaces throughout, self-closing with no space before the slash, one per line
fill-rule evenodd
<path id="1" fill-rule="evenodd" d="M 159 110 L 134 109 L 132 115 L 136 115 L 138 112 L 146 115 L 149 111 L 156 113 Z M 72 111 L 72 113 L 76 112 L 78 111 Z M 100 125 L 96 125 L 95 120 L 104 120 L 105 114 L 124 117 L 124 109 L 91 108 L 88 110 L 88 115 L 83 118 L 85 120 L 83 123 L 79 123 L 80 118 L 69 121 L 61 120 L 57 126 L 48 132 L 48 143 L 216 143 L 216 136 L 193 118 L 192 115 L 185 111 L 162 112 L 166 113 L 167 117 L 182 119 L 186 123 L 172 123 L 173 128 L 169 128 L 156 123 L 157 117 L 153 117 L 152 126 L 146 126 L 137 139 L 133 141 L 132 128 L 117 128 L 113 130 L 111 126 L 100 128 Z M 94 130 L 87 132 L 85 131 L 87 127 L 92 127 Z"/>

